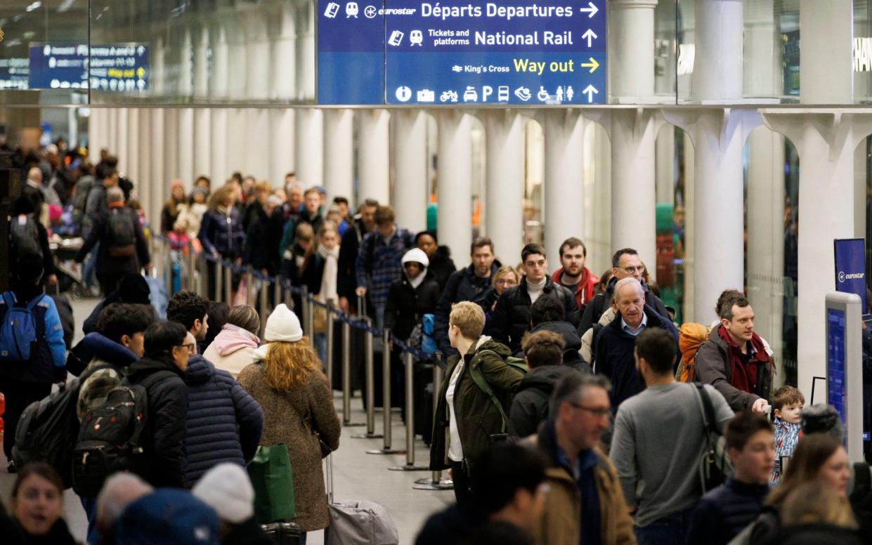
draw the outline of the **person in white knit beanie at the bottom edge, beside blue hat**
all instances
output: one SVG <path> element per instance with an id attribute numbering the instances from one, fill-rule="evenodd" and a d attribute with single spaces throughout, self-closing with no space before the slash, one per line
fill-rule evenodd
<path id="1" fill-rule="evenodd" d="M 191 494 L 218 514 L 221 545 L 271 543 L 255 520 L 255 489 L 242 467 L 218 464 L 197 481 Z"/>

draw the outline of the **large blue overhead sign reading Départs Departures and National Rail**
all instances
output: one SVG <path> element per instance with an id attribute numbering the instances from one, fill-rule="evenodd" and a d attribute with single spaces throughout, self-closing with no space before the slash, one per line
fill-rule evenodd
<path id="1" fill-rule="evenodd" d="M 318 102 L 602 104 L 604 0 L 319 0 Z"/>

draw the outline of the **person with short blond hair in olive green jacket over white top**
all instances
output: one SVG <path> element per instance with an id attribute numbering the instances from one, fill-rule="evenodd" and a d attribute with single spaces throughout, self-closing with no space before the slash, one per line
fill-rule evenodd
<path id="1" fill-rule="evenodd" d="M 506 433 L 504 415 L 523 378 L 521 371 L 506 363 L 512 355 L 508 346 L 482 336 L 484 327 L 485 313 L 479 304 L 453 305 L 448 339 L 459 353 L 448 359 L 433 422 L 430 468 L 451 469 L 460 508 L 471 500 L 469 475 L 475 461 L 487 450 L 492 435 Z"/>

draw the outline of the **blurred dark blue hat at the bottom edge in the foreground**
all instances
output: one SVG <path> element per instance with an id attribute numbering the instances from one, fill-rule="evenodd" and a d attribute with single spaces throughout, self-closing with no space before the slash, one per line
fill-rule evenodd
<path id="1" fill-rule="evenodd" d="M 218 545 L 219 539 L 215 509 L 174 488 L 142 496 L 115 523 L 118 545 Z"/>

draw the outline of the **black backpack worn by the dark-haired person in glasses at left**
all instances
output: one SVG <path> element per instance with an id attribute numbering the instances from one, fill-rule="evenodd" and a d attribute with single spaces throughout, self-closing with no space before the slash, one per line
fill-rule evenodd
<path id="1" fill-rule="evenodd" d="M 157 371 L 140 384 L 126 379 L 113 388 L 103 405 L 85 412 L 72 451 L 72 488 L 84 498 L 96 498 L 103 482 L 119 471 L 143 473 L 145 449 L 141 444 L 147 426 L 147 388 L 173 371 Z"/>

